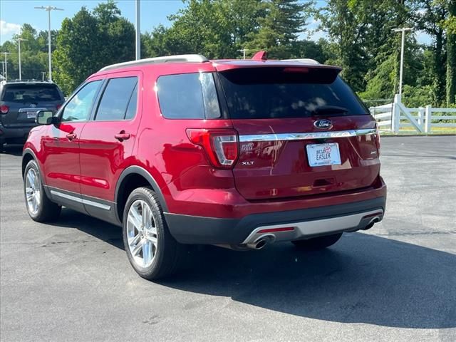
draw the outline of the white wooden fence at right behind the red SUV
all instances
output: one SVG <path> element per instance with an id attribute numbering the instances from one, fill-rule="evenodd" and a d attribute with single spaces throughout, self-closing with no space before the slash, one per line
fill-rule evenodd
<path id="1" fill-rule="evenodd" d="M 406 108 L 400 102 L 400 95 L 395 95 L 393 103 L 369 110 L 377 120 L 378 128 L 383 131 L 399 133 L 401 128 L 411 128 L 419 133 L 431 133 L 436 127 L 456 129 L 456 108 L 432 108 L 430 105 Z"/>

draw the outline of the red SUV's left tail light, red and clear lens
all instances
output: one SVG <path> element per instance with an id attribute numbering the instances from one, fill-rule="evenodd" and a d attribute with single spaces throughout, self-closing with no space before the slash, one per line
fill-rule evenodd
<path id="1" fill-rule="evenodd" d="M 239 155 L 235 130 L 206 130 L 188 128 L 187 136 L 195 145 L 202 146 L 214 167 L 229 169 Z"/>

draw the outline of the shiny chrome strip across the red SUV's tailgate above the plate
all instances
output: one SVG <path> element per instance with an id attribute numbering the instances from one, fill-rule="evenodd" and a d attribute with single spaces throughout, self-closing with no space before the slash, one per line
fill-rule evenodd
<path id="1" fill-rule="evenodd" d="M 313 132 L 313 133 L 254 134 L 254 135 L 240 135 L 239 142 L 350 138 L 350 137 L 358 137 L 361 135 L 373 135 L 373 134 L 375 134 L 375 128 L 368 128 L 368 129 L 363 129 L 363 130 L 338 130 L 338 131 L 331 131 L 331 132 Z"/>

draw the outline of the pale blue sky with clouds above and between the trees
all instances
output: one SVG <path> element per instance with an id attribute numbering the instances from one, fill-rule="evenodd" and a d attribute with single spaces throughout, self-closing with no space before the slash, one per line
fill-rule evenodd
<path id="1" fill-rule="evenodd" d="M 23 24 L 31 24 L 37 31 L 47 30 L 48 19 L 46 11 L 34 9 L 35 6 L 56 6 L 64 11 L 51 12 L 51 28 L 59 29 L 63 19 L 73 17 L 76 12 L 81 9 L 81 6 L 88 7 L 92 10 L 97 6 L 100 0 L 0 0 L 0 45 L 12 38 L 16 33 L 19 33 Z M 317 1 L 317 7 L 323 6 L 324 0 Z M 118 0 L 117 6 L 125 16 L 133 24 L 135 23 L 135 1 L 134 0 Z M 152 28 L 159 24 L 170 26 L 170 21 L 167 16 L 175 14 L 185 5 L 181 0 L 141 0 L 141 32 L 152 31 Z M 300 38 L 310 38 L 318 40 L 318 38 L 326 37 L 326 33 L 318 31 L 318 21 L 309 19 L 306 28 L 311 30 L 309 36 Z M 430 43 L 430 37 L 423 32 L 415 33 L 420 43 Z"/>

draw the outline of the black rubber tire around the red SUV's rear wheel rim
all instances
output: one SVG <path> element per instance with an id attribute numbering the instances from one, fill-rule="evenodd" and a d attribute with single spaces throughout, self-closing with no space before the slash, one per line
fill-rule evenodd
<path id="1" fill-rule="evenodd" d="M 130 239 L 132 239 L 131 228 L 130 231 L 128 230 L 128 213 L 133 204 L 140 203 L 140 201 L 145 202 L 150 207 L 152 219 L 154 221 L 153 224 L 155 225 L 154 228 L 156 230 L 156 244 L 150 247 L 151 251 L 153 251 L 155 247 L 155 252 L 152 257 L 152 264 L 149 266 L 142 266 L 138 263 L 138 259 L 133 257 L 132 251 L 130 250 L 130 248 L 133 247 L 130 247 L 128 242 L 128 232 L 130 232 Z M 130 225 L 130 227 L 132 226 Z M 135 229 L 133 230 L 135 231 Z M 140 234 L 139 231 L 138 234 Z M 135 235 L 135 233 L 133 233 L 133 235 Z M 144 237 L 146 236 L 147 234 L 144 234 Z M 148 280 L 165 278 L 166 276 L 174 274 L 180 266 L 184 246 L 179 244 L 170 234 L 158 197 L 155 192 L 148 187 L 138 187 L 131 192 L 127 199 L 123 211 L 123 244 L 130 264 L 142 278 Z M 141 253 L 144 254 L 143 249 Z M 145 261 L 145 259 L 144 255 L 142 255 L 142 260 Z"/>

